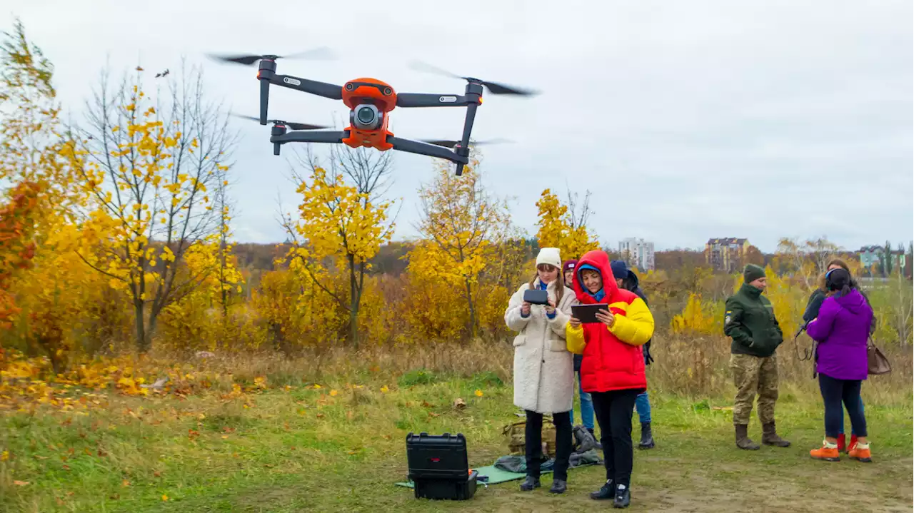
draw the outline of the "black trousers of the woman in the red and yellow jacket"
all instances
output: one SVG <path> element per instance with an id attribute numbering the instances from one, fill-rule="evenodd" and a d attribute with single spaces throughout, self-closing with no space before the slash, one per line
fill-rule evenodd
<path id="1" fill-rule="evenodd" d="M 635 398 L 643 389 L 591 392 L 593 412 L 600 424 L 603 465 L 606 478 L 614 485 L 628 487 L 632 482 L 632 410 Z"/>

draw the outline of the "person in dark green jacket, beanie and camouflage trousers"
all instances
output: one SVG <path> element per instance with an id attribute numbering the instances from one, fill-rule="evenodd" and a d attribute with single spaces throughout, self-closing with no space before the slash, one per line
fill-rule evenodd
<path id="1" fill-rule="evenodd" d="M 778 400 L 778 360 L 775 351 L 784 340 L 781 326 L 774 316 L 771 301 L 762 296 L 767 282 L 765 270 L 749 264 L 743 271 L 743 286 L 727 299 L 724 333 L 730 344 L 730 370 L 737 387 L 733 403 L 733 424 L 737 446 L 757 450 L 760 445 L 749 439 L 749 417 L 752 400 L 759 393 L 761 443 L 787 447 L 791 443 L 778 436 L 774 427 L 774 403 Z"/>

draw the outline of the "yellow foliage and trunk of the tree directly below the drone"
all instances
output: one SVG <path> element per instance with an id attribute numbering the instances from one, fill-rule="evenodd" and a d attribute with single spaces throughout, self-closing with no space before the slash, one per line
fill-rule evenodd
<path id="1" fill-rule="evenodd" d="M 394 225 L 387 224 L 390 202 L 373 204 L 369 194 L 347 185 L 342 174 L 331 177 L 321 167 L 314 167 L 297 192 L 302 194 L 299 215 L 283 223 L 293 241 L 287 255 L 290 270 L 306 274 L 348 313 L 349 340 L 357 347 L 368 262 L 393 235 Z M 345 267 L 348 290 L 341 291 L 327 272 L 328 262 L 333 267 L 337 260 Z"/>

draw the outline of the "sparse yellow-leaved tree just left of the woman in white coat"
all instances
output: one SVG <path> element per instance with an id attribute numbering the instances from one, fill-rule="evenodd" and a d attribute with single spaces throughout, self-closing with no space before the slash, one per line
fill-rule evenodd
<path id="1" fill-rule="evenodd" d="M 510 215 L 504 200 L 486 192 L 479 154 L 473 151 L 471 157 L 461 176 L 454 175 L 446 162 L 436 162 L 432 182 L 420 187 L 421 220 L 416 230 L 423 238 L 409 252 L 408 270 L 425 278 L 429 287 L 459 289 L 469 313 L 466 329 L 475 337 L 480 277 L 492 263 L 490 257 L 499 250 L 510 251 L 502 246 L 507 242 Z M 494 261 L 506 263 L 506 259 Z M 499 277 L 494 280 L 500 282 Z"/>

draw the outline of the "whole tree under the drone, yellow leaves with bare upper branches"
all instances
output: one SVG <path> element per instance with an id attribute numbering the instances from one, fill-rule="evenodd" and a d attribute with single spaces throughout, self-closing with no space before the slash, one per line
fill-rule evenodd
<path id="1" fill-rule="evenodd" d="M 324 167 L 310 146 L 296 157 L 292 179 L 302 203 L 294 219 L 282 216 L 292 241 L 290 269 L 306 273 L 345 310 L 349 340 L 358 347 L 358 312 L 369 262 L 395 227 L 389 219 L 392 202 L 382 199 L 393 170 L 391 157 L 365 148 L 334 148 Z M 337 267 L 345 269 L 348 290 L 335 284 Z"/>

